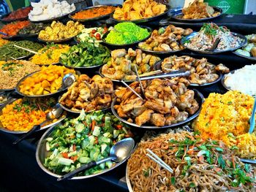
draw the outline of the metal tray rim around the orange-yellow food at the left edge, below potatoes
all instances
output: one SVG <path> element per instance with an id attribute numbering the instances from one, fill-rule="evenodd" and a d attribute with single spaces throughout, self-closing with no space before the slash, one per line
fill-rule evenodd
<path id="1" fill-rule="evenodd" d="M 3 105 L 1 105 L 0 107 L 0 115 L 2 115 L 2 110 L 4 109 L 5 106 L 7 106 L 7 104 L 12 104 L 14 101 L 16 101 L 17 99 L 10 99 L 8 100 L 7 102 L 5 102 Z M 50 126 L 54 126 L 56 125 L 57 123 L 60 123 L 62 120 L 64 120 L 65 117 L 63 118 L 59 118 L 59 120 L 57 120 L 56 122 L 54 123 L 50 123 L 46 126 L 43 126 L 41 127 L 38 131 L 41 131 L 41 130 L 44 130 L 45 128 L 49 128 Z M 28 131 L 11 131 L 7 128 L 4 128 L 2 125 L 1 125 L 1 122 L 0 122 L 0 131 L 4 131 L 6 133 L 9 133 L 9 134 L 25 134 L 26 132 Z"/>

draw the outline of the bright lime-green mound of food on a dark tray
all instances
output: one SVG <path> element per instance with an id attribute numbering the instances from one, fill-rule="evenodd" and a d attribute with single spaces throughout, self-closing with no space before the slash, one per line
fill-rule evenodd
<path id="1" fill-rule="evenodd" d="M 105 42 L 114 45 L 125 45 L 146 39 L 151 34 L 147 28 L 141 28 L 135 23 L 118 23 L 105 38 Z"/>

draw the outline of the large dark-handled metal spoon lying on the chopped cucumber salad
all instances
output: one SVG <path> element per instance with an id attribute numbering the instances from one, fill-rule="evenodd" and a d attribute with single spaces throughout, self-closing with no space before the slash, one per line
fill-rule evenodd
<path id="1" fill-rule="evenodd" d="M 110 149 L 110 155 L 107 158 L 102 158 L 99 161 L 91 161 L 88 164 L 84 164 L 80 166 L 78 169 L 75 169 L 68 174 L 64 174 L 63 176 L 59 177 L 57 180 L 67 180 L 71 177 L 74 177 L 75 174 L 82 172 L 86 169 L 90 169 L 93 166 L 97 166 L 99 164 L 103 164 L 107 161 L 115 161 L 116 163 L 123 161 L 125 158 L 129 157 L 132 153 L 133 147 L 135 146 L 135 141 L 132 138 L 122 139 L 119 142 L 116 142 Z"/>

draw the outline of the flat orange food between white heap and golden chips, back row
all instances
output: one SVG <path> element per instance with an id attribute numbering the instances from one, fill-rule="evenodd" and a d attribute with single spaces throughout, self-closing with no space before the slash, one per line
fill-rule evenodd
<path id="1" fill-rule="evenodd" d="M 113 6 L 102 6 L 102 7 L 94 7 L 91 9 L 81 10 L 80 12 L 76 12 L 72 15 L 73 19 L 89 19 L 89 18 L 97 18 L 102 15 L 108 15 L 111 12 L 114 12 L 116 7 Z"/>

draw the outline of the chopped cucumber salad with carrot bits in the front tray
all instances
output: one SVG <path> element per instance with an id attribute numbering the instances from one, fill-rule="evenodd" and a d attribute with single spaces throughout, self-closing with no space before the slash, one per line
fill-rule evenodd
<path id="1" fill-rule="evenodd" d="M 108 157 L 112 145 L 124 137 L 132 137 L 132 132 L 114 115 L 82 111 L 78 118 L 66 118 L 46 139 L 48 157 L 44 165 L 56 174 L 67 174 L 90 161 Z M 115 163 L 108 161 L 78 176 L 97 174 L 113 166 Z"/>

